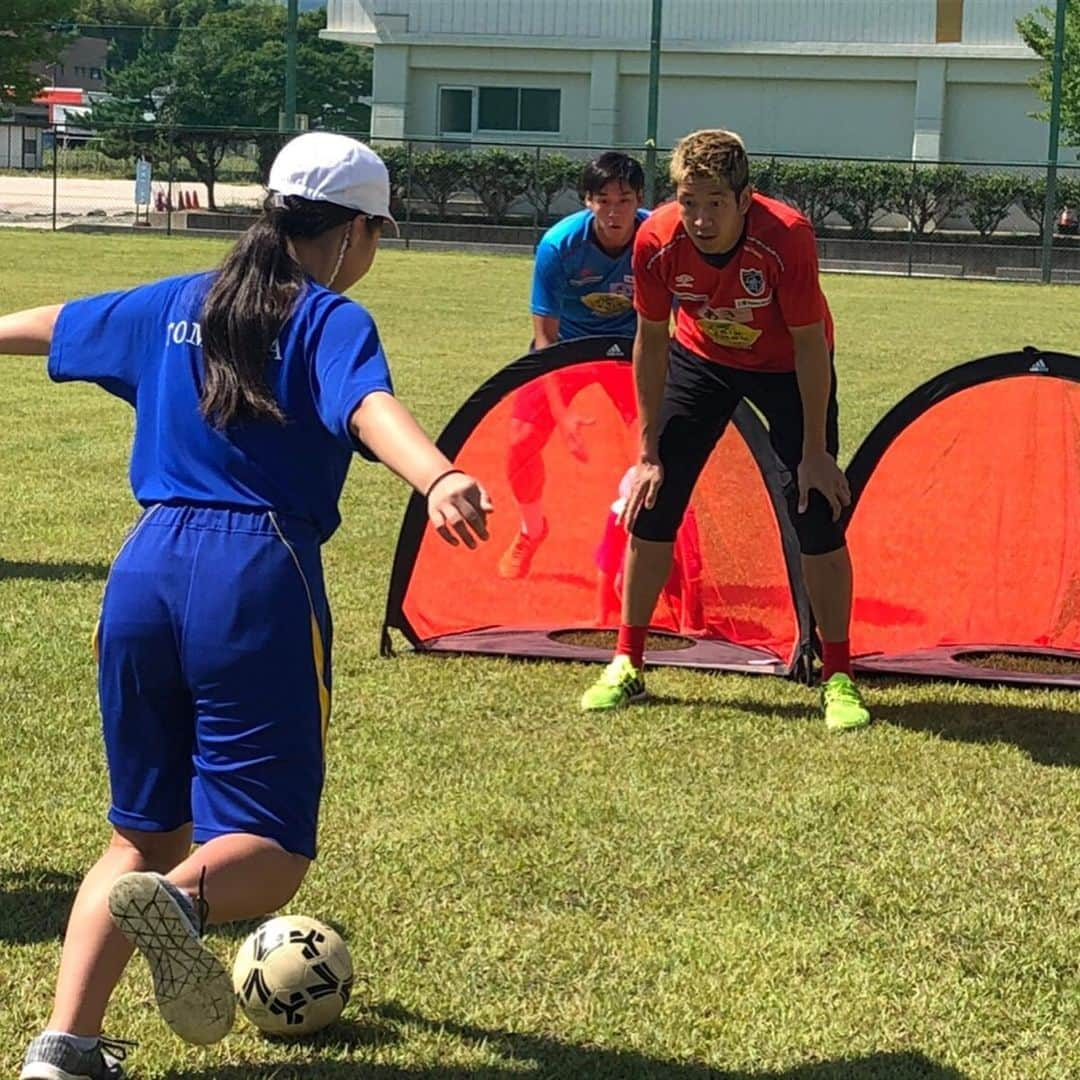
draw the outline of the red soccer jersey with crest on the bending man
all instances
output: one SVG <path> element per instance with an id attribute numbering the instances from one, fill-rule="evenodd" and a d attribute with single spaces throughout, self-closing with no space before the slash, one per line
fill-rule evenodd
<path id="1" fill-rule="evenodd" d="M 730 367 L 791 372 L 788 326 L 833 316 L 818 281 L 810 222 L 795 208 L 755 193 L 743 240 L 724 267 L 711 265 L 683 228 L 677 203 L 657 210 L 634 240 L 634 307 L 652 322 L 678 300 L 674 338 L 685 349 Z"/>

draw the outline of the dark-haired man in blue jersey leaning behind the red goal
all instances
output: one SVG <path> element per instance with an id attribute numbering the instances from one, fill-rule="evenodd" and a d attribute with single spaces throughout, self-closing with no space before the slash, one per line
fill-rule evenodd
<path id="1" fill-rule="evenodd" d="M 537 247 L 532 271 L 532 342 L 545 349 L 557 341 L 593 334 L 633 337 L 634 276 L 630 266 L 642 210 L 645 174 L 639 162 L 611 150 L 591 161 L 581 177 L 585 208 L 553 225 Z M 521 513 L 521 528 L 499 559 L 503 578 L 524 578 L 548 536 L 543 511 L 542 451 L 558 429 L 570 453 L 588 459 L 581 429 L 590 421 L 570 410 L 585 386 L 572 368 L 523 389 L 510 421 L 507 474 Z M 629 420 L 633 394 L 615 402 Z"/>

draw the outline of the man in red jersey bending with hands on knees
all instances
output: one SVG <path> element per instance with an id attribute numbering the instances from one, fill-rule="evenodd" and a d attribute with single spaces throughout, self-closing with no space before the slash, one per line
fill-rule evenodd
<path id="1" fill-rule="evenodd" d="M 671 571 L 675 534 L 735 406 L 752 402 L 797 478 L 788 512 L 824 651 L 832 730 L 869 723 L 851 679 L 851 561 L 838 525 L 851 496 L 836 463 L 833 320 L 818 281 L 813 229 L 756 193 L 742 139 L 687 135 L 672 158 L 675 201 L 634 241 L 634 382 L 642 451 L 622 521 L 631 531 L 615 659 L 584 710 L 645 696 L 645 636 Z M 671 329 L 673 301 L 677 300 Z"/>

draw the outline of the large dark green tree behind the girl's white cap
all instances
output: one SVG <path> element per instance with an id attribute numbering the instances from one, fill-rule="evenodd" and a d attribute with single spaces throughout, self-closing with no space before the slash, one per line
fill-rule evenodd
<path id="1" fill-rule="evenodd" d="M 175 0 L 168 17 L 189 16 L 198 16 L 194 26 L 181 23 L 166 51 L 166 36 L 148 33 L 136 57 L 109 73 L 113 100 L 94 120 L 106 136 L 103 149 L 114 157 L 147 146 L 160 154 L 167 130 L 216 207 L 214 188 L 230 147 L 254 143 L 265 179 L 281 146 L 286 13 L 240 0 Z M 370 90 L 370 58 L 320 39 L 325 25 L 321 11 L 299 21 L 297 108 L 312 127 L 356 130 L 365 119 L 357 97 Z M 152 136 L 137 131 L 150 125 L 158 129 Z"/>

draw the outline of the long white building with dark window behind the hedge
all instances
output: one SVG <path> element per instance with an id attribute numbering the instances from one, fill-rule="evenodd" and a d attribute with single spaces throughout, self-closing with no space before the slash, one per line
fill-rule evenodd
<path id="1" fill-rule="evenodd" d="M 1042 0 L 665 0 L 662 147 L 696 127 L 754 153 L 1038 162 Z M 372 136 L 545 146 L 646 138 L 650 0 L 328 0 L 375 49 Z"/>

